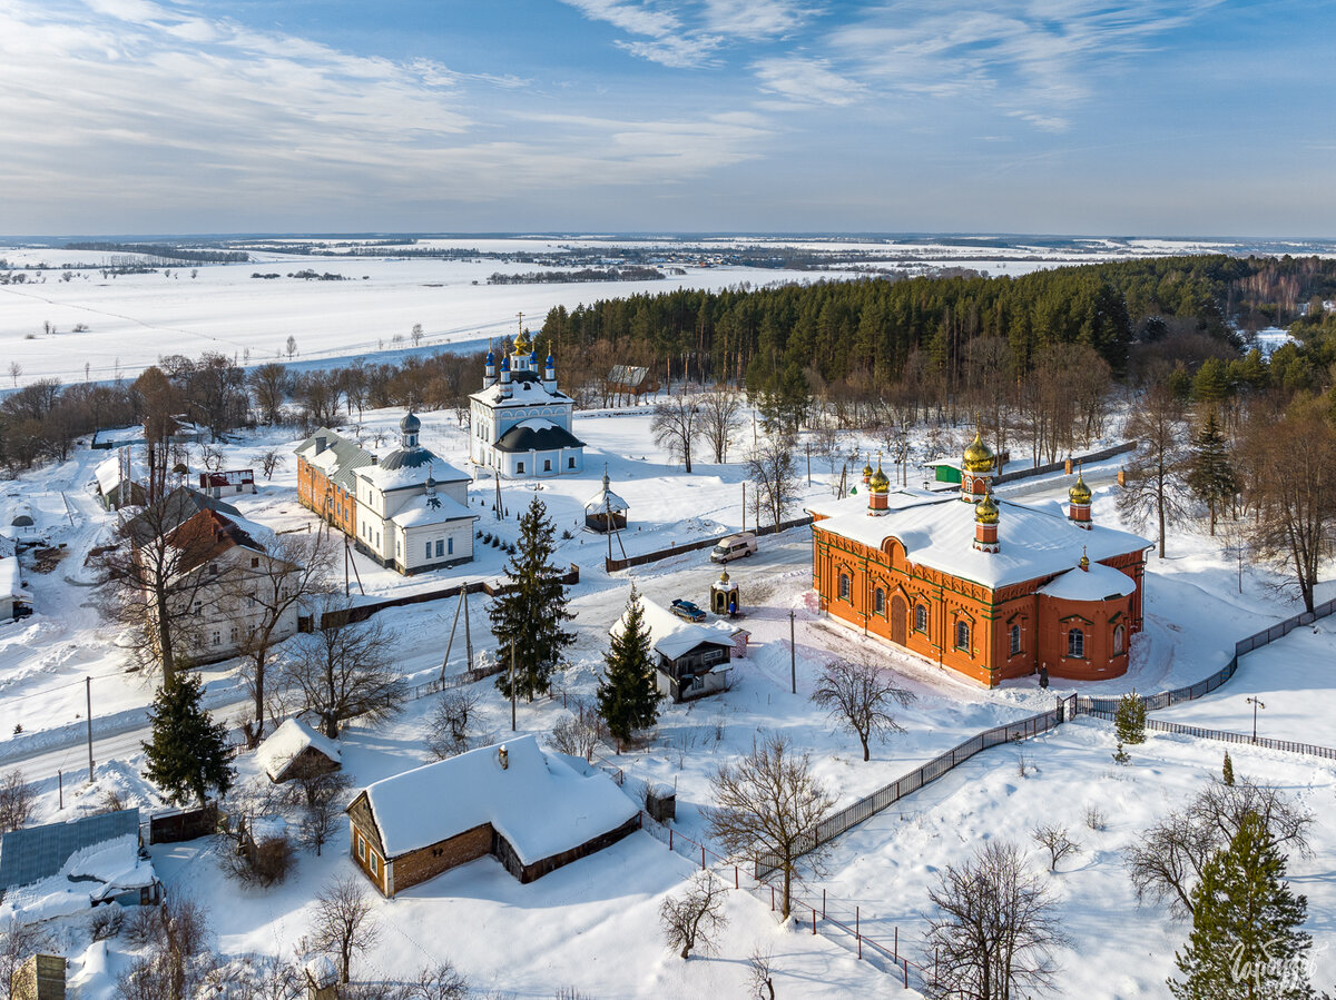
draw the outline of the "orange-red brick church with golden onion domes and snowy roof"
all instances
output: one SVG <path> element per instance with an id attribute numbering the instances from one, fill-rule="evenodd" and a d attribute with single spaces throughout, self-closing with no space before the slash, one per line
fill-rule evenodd
<path id="1" fill-rule="evenodd" d="M 1122 676 L 1152 542 L 1094 523 L 1079 473 L 1065 506 L 998 499 L 995 473 L 975 434 L 958 491 L 892 490 L 878 459 L 863 495 L 808 507 L 822 610 L 989 688 Z"/>

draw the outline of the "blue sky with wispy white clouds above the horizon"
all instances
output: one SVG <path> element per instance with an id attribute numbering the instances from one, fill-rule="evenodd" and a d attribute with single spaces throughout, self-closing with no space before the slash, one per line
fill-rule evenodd
<path id="1" fill-rule="evenodd" d="M 4 0 L 0 235 L 1332 238 L 1333 15 Z"/>

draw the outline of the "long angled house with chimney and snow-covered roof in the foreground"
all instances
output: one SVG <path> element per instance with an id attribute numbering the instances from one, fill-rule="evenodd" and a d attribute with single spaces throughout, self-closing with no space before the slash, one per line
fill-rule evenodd
<path id="1" fill-rule="evenodd" d="M 612 778 L 533 736 L 377 781 L 347 814 L 353 861 L 386 897 L 488 854 L 532 883 L 640 829 Z"/>

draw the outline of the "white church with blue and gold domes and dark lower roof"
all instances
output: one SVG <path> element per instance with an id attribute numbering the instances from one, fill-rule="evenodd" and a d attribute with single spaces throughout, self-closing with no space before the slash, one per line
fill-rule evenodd
<path id="1" fill-rule="evenodd" d="M 469 397 L 469 458 L 505 479 L 577 475 L 584 471 L 584 442 L 570 433 L 576 403 L 557 389 L 552 354 L 538 374 L 538 351 L 521 330 L 510 354 L 488 351 L 482 391 Z"/>

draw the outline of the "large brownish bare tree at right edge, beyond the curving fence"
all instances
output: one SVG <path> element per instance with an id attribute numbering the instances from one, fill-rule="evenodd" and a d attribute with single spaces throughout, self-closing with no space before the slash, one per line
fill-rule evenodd
<path id="1" fill-rule="evenodd" d="M 1336 498 L 1327 478 L 1336 466 L 1336 431 L 1321 399 L 1297 399 L 1279 421 L 1257 414 L 1244 446 L 1244 482 L 1257 517 L 1253 547 L 1283 566 L 1313 610 L 1313 587 L 1336 534 Z"/>

